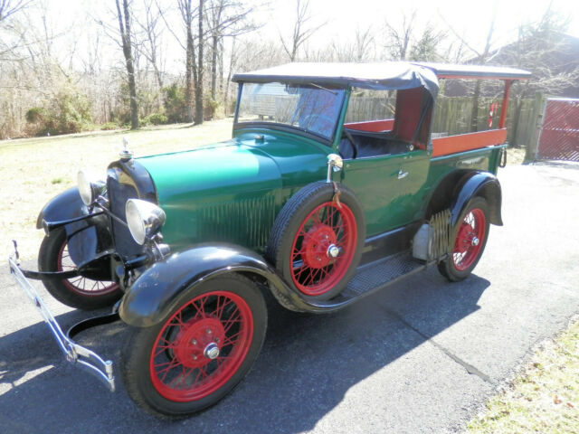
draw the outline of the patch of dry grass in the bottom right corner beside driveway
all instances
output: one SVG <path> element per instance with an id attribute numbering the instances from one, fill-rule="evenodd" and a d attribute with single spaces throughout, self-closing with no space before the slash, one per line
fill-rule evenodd
<path id="1" fill-rule="evenodd" d="M 540 345 L 508 387 L 470 421 L 469 433 L 579 433 L 579 319 Z"/>

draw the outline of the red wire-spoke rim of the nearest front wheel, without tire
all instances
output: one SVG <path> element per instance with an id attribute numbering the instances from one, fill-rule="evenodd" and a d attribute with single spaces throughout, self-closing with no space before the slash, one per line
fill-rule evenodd
<path id="1" fill-rule="evenodd" d="M 252 310 L 228 291 L 207 292 L 180 307 L 163 325 L 149 358 L 155 390 L 171 401 L 201 400 L 237 372 L 250 350 Z M 208 356 L 216 345 L 219 354 Z"/>

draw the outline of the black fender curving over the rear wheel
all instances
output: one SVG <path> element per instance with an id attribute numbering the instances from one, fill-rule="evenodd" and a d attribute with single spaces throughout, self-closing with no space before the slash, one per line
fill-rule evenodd
<path id="1" fill-rule="evenodd" d="M 489 172 L 468 172 L 460 178 L 453 197 L 455 199 L 451 204 L 451 227 L 459 221 L 460 215 L 473 197 L 483 197 L 489 204 L 489 222 L 503 225 L 500 211 L 502 192 L 497 176 Z"/>

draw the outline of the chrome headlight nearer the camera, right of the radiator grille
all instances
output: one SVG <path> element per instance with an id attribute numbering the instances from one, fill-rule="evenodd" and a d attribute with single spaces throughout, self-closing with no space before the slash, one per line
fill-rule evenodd
<path id="1" fill-rule="evenodd" d="M 153 237 L 165 223 L 165 212 L 155 203 L 129 199 L 125 205 L 127 224 L 130 234 L 138 244 Z"/>

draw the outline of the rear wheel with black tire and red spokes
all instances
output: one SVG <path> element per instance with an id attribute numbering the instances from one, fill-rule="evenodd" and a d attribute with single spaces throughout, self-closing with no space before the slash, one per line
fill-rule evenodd
<path id="1" fill-rule="evenodd" d="M 479 263 L 489 239 L 488 216 L 487 201 L 482 197 L 475 197 L 460 215 L 456 226 L 452 228 L 451 253 L 447 259 L 438 264 L 441 275 L 451 282 L 467 278 Z M 476 245 L 474 245 L 475 238 L 478 240 Z M 459 244 L 465 247 L 459 247 Z"/>

